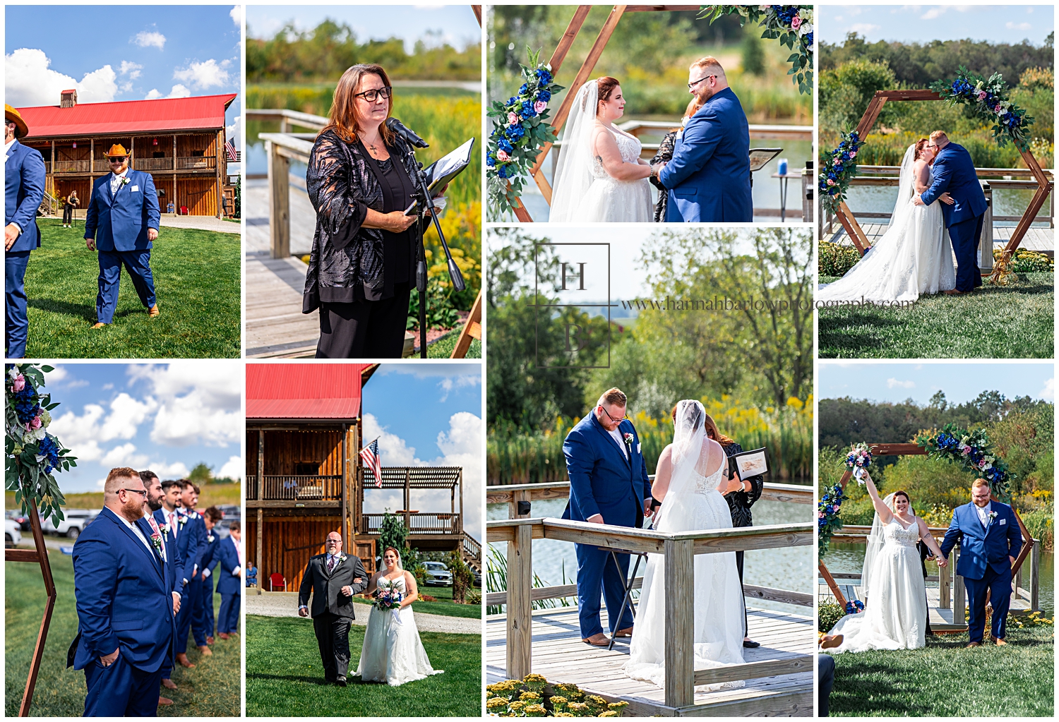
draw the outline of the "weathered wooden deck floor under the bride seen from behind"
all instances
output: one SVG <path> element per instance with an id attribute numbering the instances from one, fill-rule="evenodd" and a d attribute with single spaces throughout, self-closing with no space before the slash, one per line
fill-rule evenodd
<path id="1" fill-rule="evenodd" d="M 770 662 L 812 654 L 816 648 L 815 625 L 810 617 L 785 612 L 750 609 L 750 637 L 761 644 L 743 650 L 748 663 Z M 606 610 L 602 613 L 607 627 Z M 486 617 L 487 684 L 506 679 L 505 617 Z M 628 639 L 612 651 L 581 642 L 574 607 L 541 610 L 533 615 L 533 671 L 549 682 L 573 683 L 611 702 L 627 701 L 626 717 L 684 716 L 786 716 L 812 717 L 814 672 L 748 680 L 744 687 L 695 694 L 695 706 L 674 708 L 664 704 L 664 691 L 647 682 L 631 680 L 622 671 L 629 654 Z"/>

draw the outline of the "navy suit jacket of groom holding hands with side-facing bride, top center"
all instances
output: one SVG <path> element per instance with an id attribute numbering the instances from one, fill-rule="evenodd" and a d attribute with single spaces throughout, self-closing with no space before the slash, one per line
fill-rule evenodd
<path id="1" fill-rule="evenodd" d="M 715 93 L 688 119 L 659 181 L 669 188 L 667 221 L 749 223 L 754 219 L 750 125 L 731 88 Z"/>

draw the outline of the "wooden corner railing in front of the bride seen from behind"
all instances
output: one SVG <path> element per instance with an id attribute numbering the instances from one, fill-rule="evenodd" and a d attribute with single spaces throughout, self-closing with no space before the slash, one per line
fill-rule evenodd
<path id="1" fill-rule="evenodd" d="M 811 490 L 810 490 L 811 493 Z M 664 533 L 561 519 L 508 519 L 486 523 L 488 542 L 507 543 L 506 674 L 521 679 L 532 671 L 532 599 L 534 539 L 591 544 L 624 553 L 665 556 L 665 705 L 695 703 L 695 686 L 808 672 L 814 654 L 695 670 L 695 556 L 752 549 L 809 546 L 813 524 L 777 524 L 708 531 Z M 539 590 L 538 590 L 539 591 Z"/>

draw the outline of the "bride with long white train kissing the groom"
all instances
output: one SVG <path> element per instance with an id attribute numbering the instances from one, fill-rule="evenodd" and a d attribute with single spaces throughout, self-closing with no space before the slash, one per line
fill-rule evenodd
<path id="1" fill-rule="evenodd" d="M 816 290 L 816 302 L 841 304 L 912 302 L 920 295 L 956 288 L 952 242 L 941 206 L 915 205 L 913 198 L 930 187 L 937 147 L 926 138 L 910 145 L 901 161 L 897 205 L 890 227 L 856 266 L 832 284 Z M 943 203 L 955 201 L 948 193 Z"/>

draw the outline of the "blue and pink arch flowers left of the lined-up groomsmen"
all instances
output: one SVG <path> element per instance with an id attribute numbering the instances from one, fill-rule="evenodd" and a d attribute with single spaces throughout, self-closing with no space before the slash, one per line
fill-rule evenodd
<path id="1" fill-rule="evenodd" d="M 55 482 L 53 471 L 67 471 L 77 466 L 76 456 L 48 433 L 51 411 L 58 403 L 51 395 L 41 395 L 44 374 L 52 366 L 37 367 L 33 363 L 7 364 L 4 377 L 7 396 L 7 433 L 4 451 L 7 454 L 8 491 L 15 492 L 15 503 L 23 513 L 31 513 L 31 504 L 44 517 L 58 524 L 64 519 L 66 498 Z"/>

